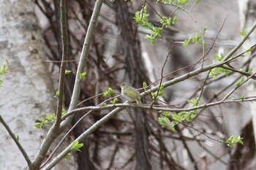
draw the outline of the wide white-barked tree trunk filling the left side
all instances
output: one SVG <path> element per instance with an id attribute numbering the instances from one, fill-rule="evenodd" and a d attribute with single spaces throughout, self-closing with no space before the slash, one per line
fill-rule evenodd
<path id="1" fill-rule="evenodd" d="M 35 128 L 39 117 L 54 112 L 53 83 L 44 62 L 39 24 L 31 0 L 0 0 L 0 63 L 10 70 L 0 88 L 0 114 L 34 159 L 47 129 Z M 0 123 L 0 169 L 26 169 L 27 163 Z M 63 165 L 59 164 L 59 168 Z M 65 166 L 64 169 L 70 169 Z"/>

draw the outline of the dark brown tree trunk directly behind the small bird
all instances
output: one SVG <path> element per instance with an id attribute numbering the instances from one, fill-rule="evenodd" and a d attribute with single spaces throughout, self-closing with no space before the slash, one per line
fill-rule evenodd
<path id="1" fill-rule="evenodd" d="M 127 2 L 115 1 L 115 9 L 116 23 L 121 31 L 121 51 L 127 68 L 126 79 L 138 88 L 143 82 L 148 82 L 148 76 L 141 55 L 137 25 L 129 14 Z M 137 169 L 140 170 L 151 169 L 146 117 L 147 113 L 142 109 L 135 109 L 135 155 Z"/>

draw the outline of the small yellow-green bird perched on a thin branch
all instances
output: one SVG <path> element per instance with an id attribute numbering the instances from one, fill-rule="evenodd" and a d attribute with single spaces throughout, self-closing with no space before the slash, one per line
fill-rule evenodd
<path id="1" fill-rule="evenodd" d="M 128 82 L 123 82 L 120 85 L 121 95 L 130 103 L 136 101 L 138 105 L 142 105 L 140 101 L 140 93 L 135 88 L 132 88 Z"/>

